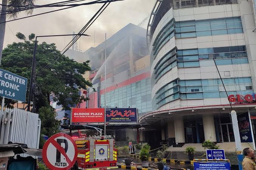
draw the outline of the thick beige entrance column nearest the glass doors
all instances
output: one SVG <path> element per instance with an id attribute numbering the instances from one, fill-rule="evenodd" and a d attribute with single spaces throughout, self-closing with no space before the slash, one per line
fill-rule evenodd
<path id="1" fill-rule="evenodd" d="M 204 115 L 203 124 L 205 140 L 217 142 L 213 115 Z"/>

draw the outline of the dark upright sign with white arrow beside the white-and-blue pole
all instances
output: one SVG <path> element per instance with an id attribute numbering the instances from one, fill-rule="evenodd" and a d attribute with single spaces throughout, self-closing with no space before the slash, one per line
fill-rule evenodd
<path id="1" fill-rule="evenodd" d="M 248 112 L 237 116 L 239 134 L 242 143 L 253 142 Z"/>

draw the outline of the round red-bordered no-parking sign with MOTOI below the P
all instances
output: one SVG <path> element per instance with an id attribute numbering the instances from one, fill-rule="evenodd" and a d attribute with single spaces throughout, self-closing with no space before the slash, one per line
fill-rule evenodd
<path id="1" fill-rule="evenodd" d="M 43 146 L 43 161 L 52 170 L 68 170 L 76 162 L 77 146 L 67 134 L 52 135 Z"/>

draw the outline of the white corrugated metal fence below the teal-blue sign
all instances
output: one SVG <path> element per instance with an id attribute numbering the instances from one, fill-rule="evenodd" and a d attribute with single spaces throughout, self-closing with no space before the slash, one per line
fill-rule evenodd
<path id="1" fill-rule="evenodd" d="M 0 113 L 0 144 L 9 141 L 39 147 L 41 120 L 38 114 L 22 109 L 5 109 Z"/>

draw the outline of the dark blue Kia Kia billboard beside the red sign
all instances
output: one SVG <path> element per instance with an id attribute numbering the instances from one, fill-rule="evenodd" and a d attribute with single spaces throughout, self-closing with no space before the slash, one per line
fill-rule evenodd
<path id="1" fill-rule="evenodd" d="M 136 108 L 106 108 L 108 123 L 137 123 Z"/>

